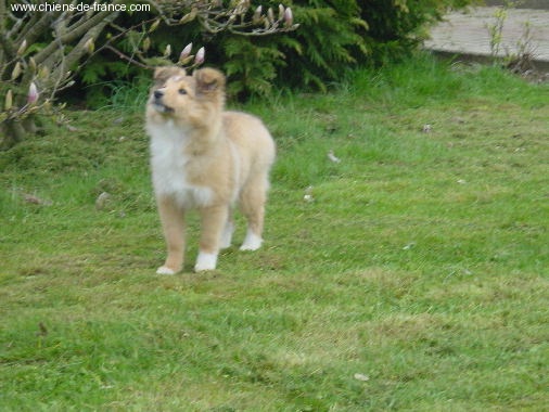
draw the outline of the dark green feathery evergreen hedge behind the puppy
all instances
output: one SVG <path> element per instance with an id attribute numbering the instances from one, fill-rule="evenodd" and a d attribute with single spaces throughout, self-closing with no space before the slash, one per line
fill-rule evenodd
<path id="1" fill-rule="evenodd" d="M 266 94 L 273 87 L 325 90 L 357 65 L 380 65 L 409 54 L 445 11 L 474 1 L 282 0 L 301 25 L 296 31 L 268 37 L 210 36 L 191 24 L 179 27 L 174 36 L 173 29 L 161 27 L 151 38 L 152 50 L 162 52 L 168 43 L 181 50 L 191 41 L 205 46 L 206 64 L 228 74 L 232 96 Z M 279 2 L 254 2 L 258 4 L 277 10 Z M 129 25 L 133 23 L 130 18 L 124 16 L 118 24 Z M 116 56 L 102 54 L 85 67 L 81 80 L 94 83 L 138 73 Z"/>

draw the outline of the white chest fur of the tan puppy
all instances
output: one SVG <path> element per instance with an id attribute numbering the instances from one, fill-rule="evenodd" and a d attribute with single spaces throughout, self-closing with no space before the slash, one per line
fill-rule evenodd
<path id="1" fill-rule="evenodd" d="M 184 208 L 210 204 L 212 189 L 188 182 L 186 167 L 190 158 L 184 153 L 189 142 L 186 131 L 173 121 L 149 124 L 146 130 L 151 136 L 151 167 L 156 195 L 173 196 Z"/>

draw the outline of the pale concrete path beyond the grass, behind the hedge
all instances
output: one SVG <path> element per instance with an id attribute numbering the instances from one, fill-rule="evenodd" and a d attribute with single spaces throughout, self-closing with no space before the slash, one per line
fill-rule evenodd
<path id="1" fill-rule="evenodd" d="M 548 0 L 549 3 L 549 0 Z M 490 57 L 488 27 L 496 24 L 498 8 L 474 8 L 469 12 L 454 12 L 431 30 L 425 48 L 445 54 L 471 59 Z M 529 36 L 526 38 L 526 27 Z M 500 56 L 516 55 L 521 47 L 534 57 L 537 68 L 549 70 L 549 10 L 509 9 L 503 23 Z"/>

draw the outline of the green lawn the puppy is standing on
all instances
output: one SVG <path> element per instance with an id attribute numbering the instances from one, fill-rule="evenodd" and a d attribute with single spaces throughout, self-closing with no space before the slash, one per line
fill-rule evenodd
<path id="1" fill-rule="evenodd" d="M 0 154 L 0 409 L 545 410 L 547 102 L 426 56 L 252 102 L 265 247 L 191 273 L 194 218 L 176 276 L 140 112 L 71 113 Z"/>

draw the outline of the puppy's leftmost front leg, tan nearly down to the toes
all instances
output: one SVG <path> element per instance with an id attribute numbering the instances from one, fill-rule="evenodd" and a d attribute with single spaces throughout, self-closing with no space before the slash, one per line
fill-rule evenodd
<path id="1" fill-rule="evenodd" d="M 168 256 L 164 266 L 159 267 L 156 273 L 175 274 L 183 266 L 184 213 L 170 197 L 161 197 L 157 203 Z"/>

